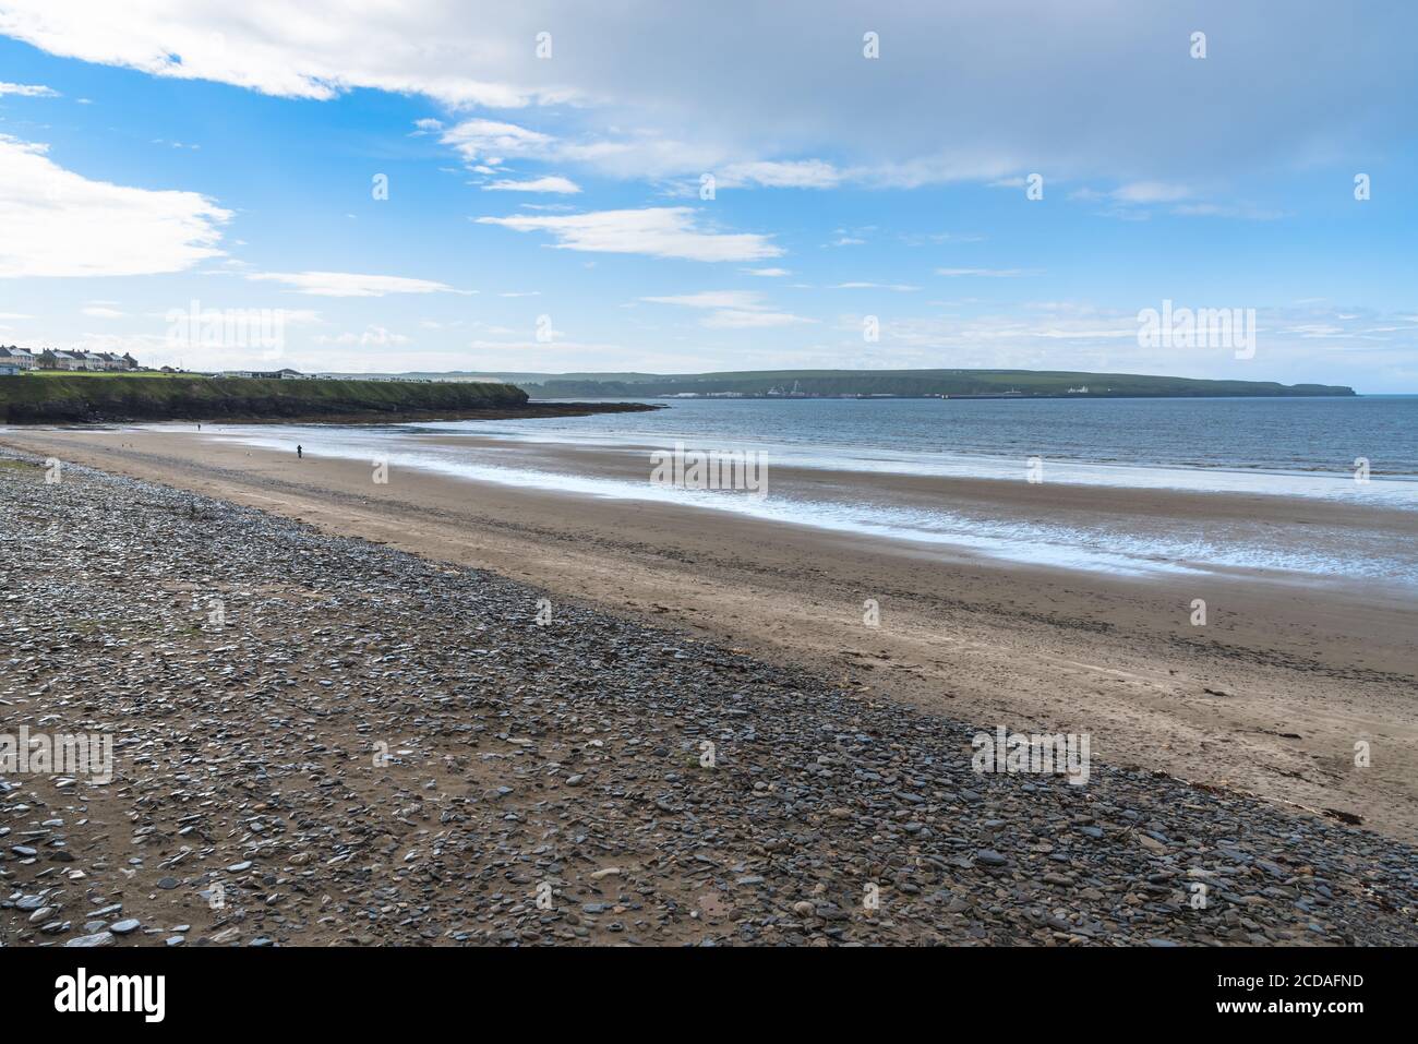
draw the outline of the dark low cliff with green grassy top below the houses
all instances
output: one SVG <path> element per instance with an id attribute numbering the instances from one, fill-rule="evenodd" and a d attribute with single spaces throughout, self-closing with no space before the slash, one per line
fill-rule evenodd
<path id="1" fill-rule="evenodd" d="M 512 384 L 387 380 L 255 380 L 146 374 L 0 377 L 7 424 L 159 420 L 343 420 L 518 411 Z"/>

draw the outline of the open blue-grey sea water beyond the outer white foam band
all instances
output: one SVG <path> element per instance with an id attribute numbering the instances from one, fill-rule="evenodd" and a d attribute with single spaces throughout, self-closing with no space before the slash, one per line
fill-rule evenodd
<path id="1" fill-rule="evenodd" d="M 1418 477 L 1418 396 L 1356 399 L 647 399 L 668 410 L 478 426 L 569 440 L 759 441 L 930 457 Z"/>

